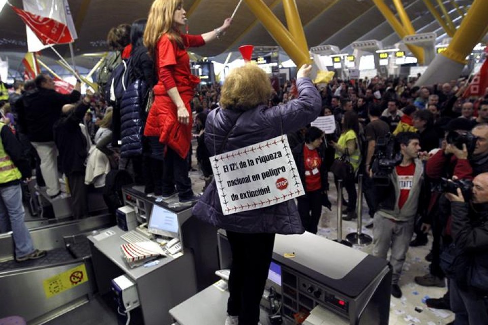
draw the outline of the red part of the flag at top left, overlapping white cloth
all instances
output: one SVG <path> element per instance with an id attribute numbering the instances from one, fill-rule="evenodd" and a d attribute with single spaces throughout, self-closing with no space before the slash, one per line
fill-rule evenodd
<path id="1" fill-rule="evenodd" d="M 44 45 L 73 42 L 73 37 L 67 25 L 52 18 L 35 15 L 14 6 L 10 7 L 31 28 Z"/>

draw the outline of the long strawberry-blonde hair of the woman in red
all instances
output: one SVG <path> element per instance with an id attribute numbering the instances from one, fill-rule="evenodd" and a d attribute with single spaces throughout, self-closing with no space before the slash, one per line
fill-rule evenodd
<path id="1" fill-rule="evenodd" d="M 173 26 L 174 12 L 182 5 L 182 0 L 155 0 L 153 2 L 144 31 L 144 46 L 150 56 L 154 56 L 158 40 L 165 34 L 179 48 L 185 48 L 179 31 Z"/>

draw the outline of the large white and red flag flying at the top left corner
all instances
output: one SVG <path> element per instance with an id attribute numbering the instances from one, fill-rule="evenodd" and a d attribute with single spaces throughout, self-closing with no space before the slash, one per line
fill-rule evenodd
<path id="1" fill-rule="evenodd" d="M 74 41 L 76 31 L 67 5 L 65 0 L 44 0 L 42 2 L 23 0 L 23 10 L 11 6 L 27 25 L 29 52 L 40 51 L 52 44 L 66 44 Z"/>

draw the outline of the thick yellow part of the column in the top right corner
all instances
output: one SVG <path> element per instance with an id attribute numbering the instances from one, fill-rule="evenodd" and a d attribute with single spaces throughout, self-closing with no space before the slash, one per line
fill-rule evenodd
<path id="1" fill-rule="evenodd" d="M 465 64 L 466 56 L 471 53 L 474 46 L 486 33 L 488 27 L 486 12 L 488 12 L 488 1 L 474 0 L 447 50 L 440 55 L 444 55 L 457 63 Z"/>

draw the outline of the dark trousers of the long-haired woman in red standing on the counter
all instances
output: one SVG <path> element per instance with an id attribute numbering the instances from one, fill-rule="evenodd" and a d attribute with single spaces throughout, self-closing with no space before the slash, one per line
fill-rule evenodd
<path id="1" fill-rule="evenodd" d="M 192 181 L 188 177 L 188 159 L 179 157 L 168 147 L 164 157 L 163 194 L 173 193 L 175 185 L 180 199 L 193 196 Z"/>

